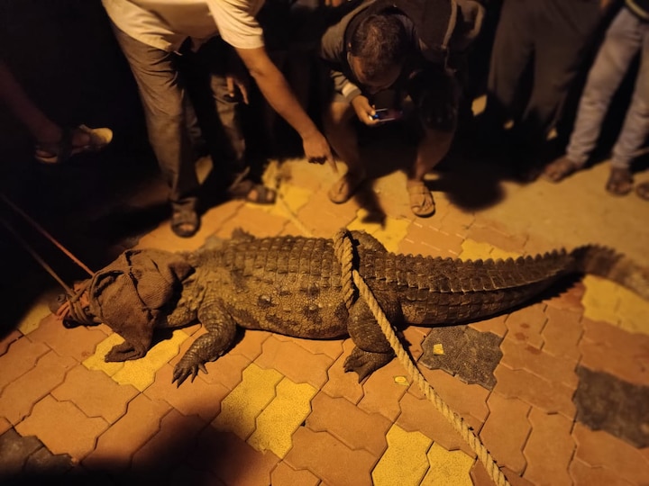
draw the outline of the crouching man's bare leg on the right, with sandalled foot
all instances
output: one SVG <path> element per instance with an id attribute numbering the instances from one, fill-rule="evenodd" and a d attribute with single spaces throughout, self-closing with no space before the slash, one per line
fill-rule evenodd
<path id="1" fill-rule="evenodd" d="M 424 184 L 424 176 L 439 164 L 451 148 L 452 131 L 425 129 L 419 142 L 415 163 L 407 175 L 406 189 L 410 196 L 410 209 L 419 217 L 434 213 L 433 194 Z"/>

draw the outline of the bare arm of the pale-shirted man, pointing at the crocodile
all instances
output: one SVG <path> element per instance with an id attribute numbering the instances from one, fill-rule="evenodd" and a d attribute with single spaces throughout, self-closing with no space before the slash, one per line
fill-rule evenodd
<path id="1" fill-rule="evenodd" d="M 328 162 L 337 172 L 331 148 L 293 94 L 284 75 L 270 60 L 266 49 L 236 49 L 243 63 L 257 82 L 270 106 L 293 127 L 302 138 L 309 162 Z"/>

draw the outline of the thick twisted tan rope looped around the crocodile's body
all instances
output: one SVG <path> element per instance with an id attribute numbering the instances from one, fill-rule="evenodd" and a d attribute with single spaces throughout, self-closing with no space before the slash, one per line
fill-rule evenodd
<path id="1" fill-rule="evenodd" d="M 380 308 L 379 302 L 374 298 L 370 287 L 365 283 L 358 270 L 353 268 L 354 251 L 352 238 L 347 229 L 340 229 L 334 235 L 334 254 L 341 265 L 343 296 L 347 309 L 349 310 L 352 306 L 352 303 L 355 301 L 354 295 L 358 292 L 365 302 L 367 302 L 374 319 L 377 320 L 383 334 L 388 339 L 390 347 L 394 350 L 401 364 L 406 367 L 408 375 L 417 384 L 419 390 L 424 393 L 426 399 L 433 403 L 435 409 L 442 413 L 444 419 L 451 423 L 452 427 L 471 447 L 471 450 L 478 456 L 480 463 L 482 463 L 487 473 L 489 473 L 492 481 L 498 486 L 508 485 L 509 482 L 507 482 L 505 474 L 500 471 L 498 464 L 496 464 L 496 461 L 489 454 L 487 448 L 482 444 L 480 438 L 473 433 L 464 419 L 451 410 L 448 404 L 443 401 L 442 397 L 426 382 L 424 375 L 416 368 L 415 363 L 408 356 L 406 349 L 401 345 L 397 334 L 392 329 L 392 325 Z"/>

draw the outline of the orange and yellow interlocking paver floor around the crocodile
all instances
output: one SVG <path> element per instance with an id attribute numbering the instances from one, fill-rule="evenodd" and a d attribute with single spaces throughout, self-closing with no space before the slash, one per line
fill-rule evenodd
<path id="1" fill-rule="evenodd" d="M 155 181 L 128 198 L 111 194 L 111 204 L 88 207 L 95 212 L 71 226 L 81 254 L 105 249 L 90 258 L 95 269 L 125 247 L 191 250 L 235 228 L 331 237 L 341 227 L 365 229 L 405 254 L 500 258 L 598 243 L 649 266 L 649 204 L 635 194 L 608 196 L 606 164 L 562 184 L 509 182 L 489 163 L 458 167 L 430 176 L 437 211 L 423 220 L 409 211 L 401 172 L 379 174 L 358 198 L 334 205 L 326 190 L 335 175 L 295 159 L 265 172 L 279 187 L 274 206 L 219 203 L 194 238 L 174 237 L 169 220 L 151 210 L 161 197 Z M 74 177 L 87 169 L 65 170 Z M 160 224 L 121 239 L 87 231 L 97 228 L 88 220 L 123 227 L 124 208 L 151 210 Z M 492 483 L 398 360 L 358 383 L 343 372 L 350 339 L 250 331 L 207 365 L 208 374 L 176 388 L 173 366 L 204 332 L 199 325 L 160 336 L 140 360 L 106 364 L 121 338 L 104 325 L 64 329 L 46 306 L 56 292 L 48 279 L 21 280 L 32 300 L 5 322 L 0 341 L 2 483 Z M 511 484 L 646 485 L 648 311 L 649 302 L 587 276 L 506 315 L 411 327 L 404 338 L 426 380 Z"/>

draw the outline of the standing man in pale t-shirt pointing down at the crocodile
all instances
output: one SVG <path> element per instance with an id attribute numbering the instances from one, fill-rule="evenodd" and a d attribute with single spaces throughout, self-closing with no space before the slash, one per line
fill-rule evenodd
<path id="1" fill-rule="evenodd" d="M 297 102 L 264 48 L 263 31 L 255 18 L 263 0 L 102 3 L 139 88 L 151 147 L 169 183 L 171 229 L 179 237 L 193 236 L 200 225 L 196 142 L 189 127 L 195 113 L 177 66 L 178 55 L 184 48 L 197 50 L 207 40 L 220 36 L 241 58 L 271 107 L 300 135 L 309 162 L 329 161 L 335 169 L 326 139 Z M 227 66 L 224 70 L 225 94 L 215 94 L 217 103 L 219 96 L 234 98 L 237 94 L 246 102 L 247 87 L 242 77 Z M 235 177 L 234 183 L 240 184 L 240 178 Z M 251 191 L 263 192 L 258 186 L 252 186 Z M 259 200 L 259 195 L 250 197 Z"/>

